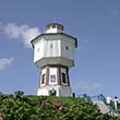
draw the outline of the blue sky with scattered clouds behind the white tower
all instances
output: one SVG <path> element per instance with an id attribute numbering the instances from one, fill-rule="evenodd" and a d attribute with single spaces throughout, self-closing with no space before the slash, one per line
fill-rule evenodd
<path id="1" fill-rule="evenodd" d="M 77 38 L 72 91 L 120 97 L 120 0 L 1 0 L 0 92 L 37 94 L 39 69 L 29 41 L 52 22 Z"/>

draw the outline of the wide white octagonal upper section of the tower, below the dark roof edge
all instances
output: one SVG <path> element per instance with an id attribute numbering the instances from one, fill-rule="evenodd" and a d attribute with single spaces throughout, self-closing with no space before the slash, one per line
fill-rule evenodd
<path id="1" fill-rule="evenodd" d="M 46 65 L 46 63 L 63 64 L 69 68 L 74 65 L 75 41 L 73 38 L 62 35 L 45 36 L 45 38 L 38 38 L 34 44 L 34 62 L 37 67 Z"/>

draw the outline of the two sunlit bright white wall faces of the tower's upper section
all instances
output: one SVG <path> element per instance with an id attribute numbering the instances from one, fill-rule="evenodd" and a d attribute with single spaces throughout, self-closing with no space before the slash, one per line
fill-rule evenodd
<path id="1" fill-rule="evenodd" d="M 60 57 L 60 40 L 39 40 L 35 44 L 34 62 L 44 57 Z"/>

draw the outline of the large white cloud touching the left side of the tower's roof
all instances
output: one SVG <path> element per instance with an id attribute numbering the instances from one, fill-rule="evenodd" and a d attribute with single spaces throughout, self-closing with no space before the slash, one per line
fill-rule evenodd
<path id="1" fill-rule="evenodd" d="M 0 29 L 2 29 L 11 39 L 22 39 L 25 47 L 31 48 L 31 40 L 40 34 L 38 27 L 29 27 L 28 25 L 16 25 L 14 23 L 8 23 L 3 25 L 0 23 Z"/>

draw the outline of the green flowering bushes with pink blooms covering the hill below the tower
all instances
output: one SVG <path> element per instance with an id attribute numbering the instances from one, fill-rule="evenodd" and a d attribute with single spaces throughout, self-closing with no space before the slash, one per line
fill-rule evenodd
<path id="1" fill-rule="evenodd" d="M 117 120 L 100 113 L 98 107 L 82 98 L 0 94 L 0 116 L 5 120 Z"/>

